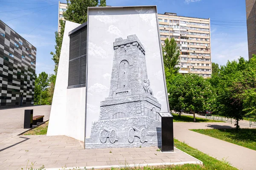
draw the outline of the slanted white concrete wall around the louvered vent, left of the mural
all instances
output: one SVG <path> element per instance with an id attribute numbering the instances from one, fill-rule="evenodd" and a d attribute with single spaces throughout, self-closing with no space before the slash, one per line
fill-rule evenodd
<path id="1" fill-rule="evenodd" d="M 67 89 L 70 45 L 68 34 L 78 26 L 80 24 L 66 21 L 47 136 L 66 135 L 84 141 L 85 88 Z"/>

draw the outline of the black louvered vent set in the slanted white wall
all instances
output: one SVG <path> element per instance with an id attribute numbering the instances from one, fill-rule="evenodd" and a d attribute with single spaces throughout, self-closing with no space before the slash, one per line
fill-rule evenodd
<path id="1" fill-rule="evenodd" d="M 68 88 L 85 87 L 87 26 L 70 35 Z"/>

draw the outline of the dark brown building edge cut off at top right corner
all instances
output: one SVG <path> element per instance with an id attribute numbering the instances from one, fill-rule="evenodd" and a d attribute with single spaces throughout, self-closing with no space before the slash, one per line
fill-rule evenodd
<path id="1" fill-rule="evenodd" d="M 256 0 L 245 0 L 249 59 L 256 54 Z"/>

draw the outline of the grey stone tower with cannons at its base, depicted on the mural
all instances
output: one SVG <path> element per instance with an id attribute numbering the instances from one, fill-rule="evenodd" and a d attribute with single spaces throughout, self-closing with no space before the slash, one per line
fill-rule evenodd
<path id="1" fill-rule="evenodd" d="M 153 96 L 145 48 L 136 35 L 113 42 L 109 96 L 100 103 L 85 148 L 157 146 L 161 142 L 161 105 Z"/>

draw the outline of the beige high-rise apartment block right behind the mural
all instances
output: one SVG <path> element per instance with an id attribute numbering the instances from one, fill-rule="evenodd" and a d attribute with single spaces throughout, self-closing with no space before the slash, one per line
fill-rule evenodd
<path id="1" fill-rule="evenodd" d="M 181 17 L 175 13 L 158 14 L 161 44 L 175 38 L 180 48 L 181 74 L 211 77 L 210 19 Z"/>

